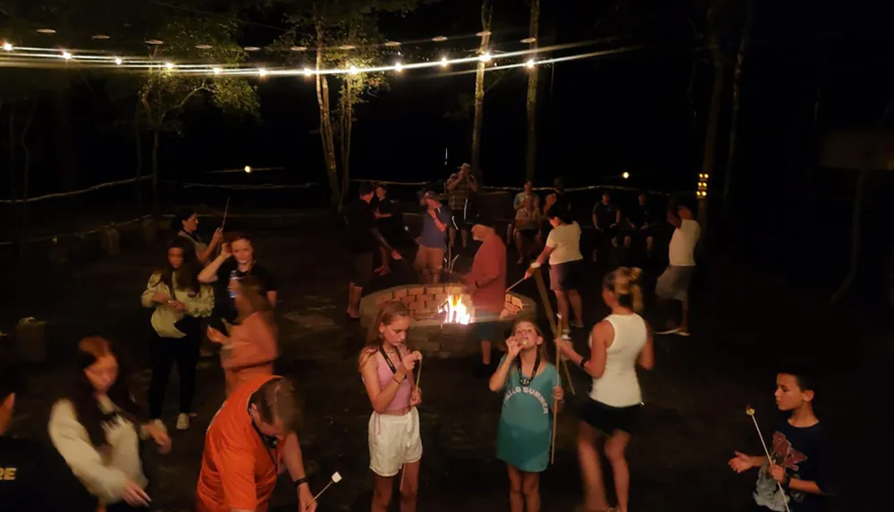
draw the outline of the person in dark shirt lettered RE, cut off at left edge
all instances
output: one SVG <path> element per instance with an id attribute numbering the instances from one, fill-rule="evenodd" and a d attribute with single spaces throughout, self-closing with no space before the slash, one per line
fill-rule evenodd
<path id="1" fill-rule="evenodd" d="M 96 512 L 91 496 L 55 449 L 6 435 L 12 424 L 19 381 L 0 364 L 0 510 L 4 512 Z"/>

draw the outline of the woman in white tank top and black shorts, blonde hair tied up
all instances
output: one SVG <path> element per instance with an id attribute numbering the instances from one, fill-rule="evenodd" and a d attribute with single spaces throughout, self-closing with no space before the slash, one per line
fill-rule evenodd
<path id="1" fill-rule="evenodd" d="M 630 434 L 637 431 L 642 409 L 642 392 L 637 364 L 654 366 L 652 333 L 637 312 L 643 294 L 637 284 L 638 268 L 619 267 L 603 279 L 603 300 L 611 315 L 597 323 L 590 333 L 590 354 L 584 357 L 570 341 L 558 340 L 562 356 L 593 377 L 590 399 L 580 408 L 578 457 L 584 479 L 587 512 L 608 510 L 599 460 L 599 437 L 606 436 L 604 454 L 609 459 L 618 498 L 618 512 L 628 511 L 630 471 L 624 451 Z"/>

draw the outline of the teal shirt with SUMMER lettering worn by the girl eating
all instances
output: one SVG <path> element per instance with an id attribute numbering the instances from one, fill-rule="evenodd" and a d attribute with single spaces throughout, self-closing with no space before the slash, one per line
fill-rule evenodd
<path id="1" fill-rule="evenodd" d="M 560 386 L 561 380 L 555 366 L 546 364 L 530 385 L 522 386 L 518 367 L 512 365 L 506 377 L 497 458 L 526 473 L 540 473 L 550 462 L 552 389 Z"/>

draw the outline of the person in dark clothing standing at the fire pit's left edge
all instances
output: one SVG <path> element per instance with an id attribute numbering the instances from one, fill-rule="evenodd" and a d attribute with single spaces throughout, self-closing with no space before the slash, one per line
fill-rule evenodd
<path id="1" fill-rule="evenodd" d="M 360 295 L 363 294 L 363 287 L 373 277 L 375 251 L 383 247 L 391 252 L 392 258 L 401 259 L 401 254 L 385 241 L 375 225 L 375 212 L 370 206 L 373 196 L 373 185 L 361 183 L 358 199 L 348 207 L 345 214 L 349 230 L 348 250 L 352 256 L 346 313 L 354 320 L 360 318 Z"/>

